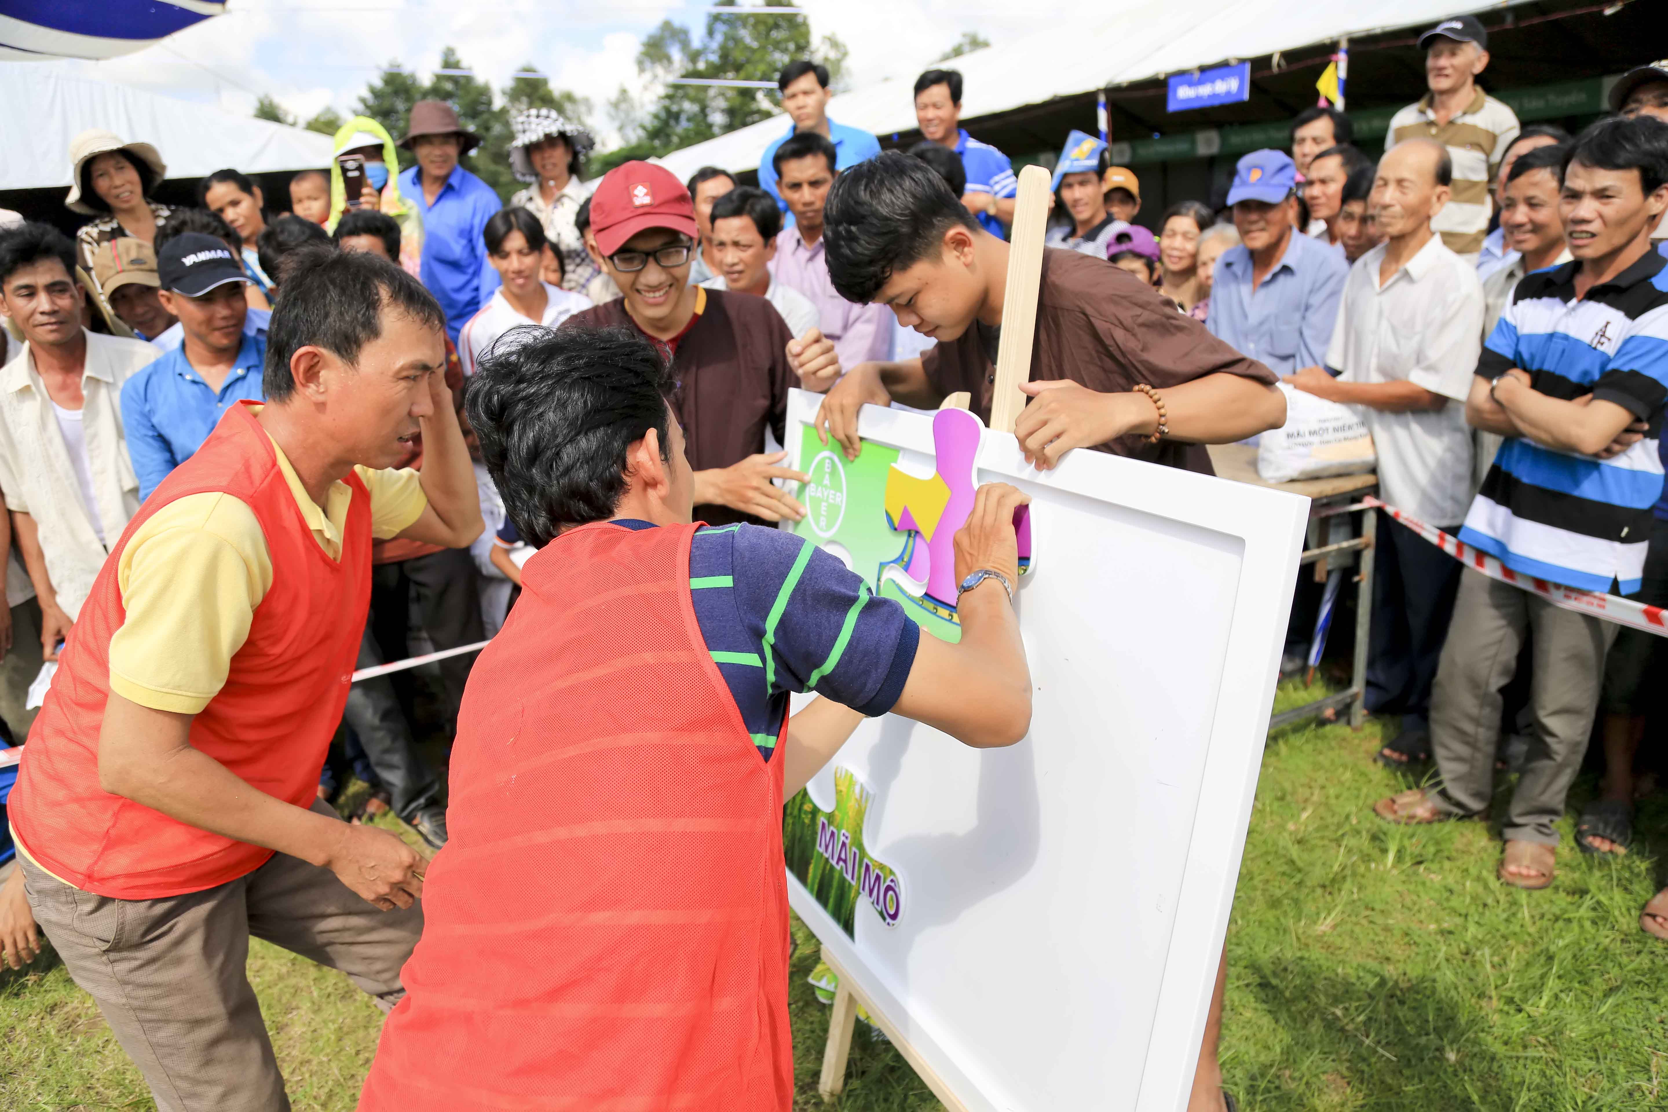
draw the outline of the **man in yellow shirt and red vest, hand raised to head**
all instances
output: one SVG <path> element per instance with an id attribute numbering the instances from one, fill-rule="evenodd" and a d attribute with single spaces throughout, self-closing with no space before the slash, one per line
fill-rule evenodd
<path id="1" fill-rule="evenodd" d="M 163 1112 L 290 1107 L 250 935 L 384 1007 L 402 994 L 422 859 L 315 794 L 372 538 L 482 528 L 444 327 L 399 267 L 297 252 L 265 405 L 230 408 L 122 532 L 23 749 L 7 810 L 28 904 Z M 394 470 L 419 430 L 420 477 Z"/>

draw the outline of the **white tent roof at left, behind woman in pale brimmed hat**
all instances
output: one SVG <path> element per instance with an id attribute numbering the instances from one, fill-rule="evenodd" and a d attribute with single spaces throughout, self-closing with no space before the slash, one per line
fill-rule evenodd
<path id="1" fill-rule="evenodd" d="M 170 178 L 330 163 L 329 135 L 72 75 L 57 63 L 0 62 L 0 190 L 68 187 L 70 140 L 88 128 L 153 143 Z"/>

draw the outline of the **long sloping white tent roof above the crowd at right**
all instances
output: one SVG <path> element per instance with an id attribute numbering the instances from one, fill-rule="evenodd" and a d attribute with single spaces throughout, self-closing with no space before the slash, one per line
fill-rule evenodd
<path id="1" fill-rule="evenodd" d="M 1286 0 L 1114 0 L 1094 25 L 1042 27 L 1012 42 L 986 47 L 952 63 L 966 78 L 964 120 L 1042 103 L 1056 97 L 1181 73 L 1229 58 L 1298 50 L 1344 35 L 1434 25 L 1461 12 L 1511 7 L 1454 0 L 1339 0 L 1293 5 Z M 887 78 L 829 102 L 829 117 L 876 135 L 916 127 L 914 75 Z M 704 143 L 666 155 L 677 177 L 712 165 L 754 170 L 764 148 L 791 127 L 776 115 Z M 1061 137 L 1064 138 L 1064 137 Z"/>

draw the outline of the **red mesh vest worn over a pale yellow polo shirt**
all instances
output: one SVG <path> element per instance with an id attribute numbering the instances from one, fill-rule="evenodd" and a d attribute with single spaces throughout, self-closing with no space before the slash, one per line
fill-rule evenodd
<path id="1" fill-rule="evenodd" d="M 227 410 L 192 458 L 128 522 L 58 657 L 47 704 L 7 804 L 28 855 L 87 892 L 148 900 L 200 892 L 259 869 L 272 850 L 185 825 L 98 787 L 98 730 L 110 697 L 110 637 L 127 610 L 117 565 L 133 533 L 187 495 L 224 492 L 260 522 L 272 587 L 220 692 L 192 719 L 190 744 L 297 807 L 319 790 L 370 607 L 370 493 L 347 478 L 342 559 L 314 540 L 249 403 Z"/>

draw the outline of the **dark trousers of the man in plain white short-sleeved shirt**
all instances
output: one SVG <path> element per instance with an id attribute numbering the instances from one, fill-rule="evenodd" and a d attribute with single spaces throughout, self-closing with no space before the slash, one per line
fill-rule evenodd
<path id="1" fill-rule="evenodd" d="M 1439 528 L 1458 532 L 1446 525 Z M 1366 659 L 1368 710 L 1426 724 L 1431 684 L 1448 639 L 1461 572 L 1460 560 L 1378 510 L 1373 637 Z"/>

